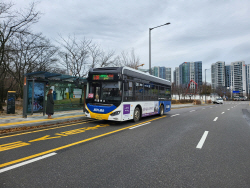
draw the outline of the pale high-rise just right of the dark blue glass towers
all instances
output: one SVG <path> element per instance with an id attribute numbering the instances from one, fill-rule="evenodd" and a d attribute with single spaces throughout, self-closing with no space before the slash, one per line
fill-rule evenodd
<path id="1" fill-rule="evenodd" d="M 225 62 L 217 61 L 211 65 L 212 89 L 225 87 Z"/>

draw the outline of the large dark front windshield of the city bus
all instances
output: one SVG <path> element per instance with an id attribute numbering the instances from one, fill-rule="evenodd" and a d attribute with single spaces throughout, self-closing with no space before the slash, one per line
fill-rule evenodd
<path id="1" fill-rule="evenodd" d="M 92 82 L 88 99 L 93 102 L 112 103 L 122 100 L 121 82 Z"/>

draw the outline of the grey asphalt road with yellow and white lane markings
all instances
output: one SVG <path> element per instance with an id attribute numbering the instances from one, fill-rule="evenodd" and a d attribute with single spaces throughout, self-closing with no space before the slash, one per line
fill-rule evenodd
<path id="1" fill-rule="evenodd" d="M 0 187 L 250 187 L 249 102 L 0 137 Z"/>

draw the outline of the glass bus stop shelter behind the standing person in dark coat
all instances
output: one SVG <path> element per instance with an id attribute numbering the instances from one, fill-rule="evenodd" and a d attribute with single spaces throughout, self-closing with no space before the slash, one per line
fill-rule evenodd
<path id="1" fill-rule="evenodd" d="M 54 110 L 83 109 L 87 79 L 45 71 L 24 75 L 23 118 L 46 112 L 47 93 L 53 89 Z"/>

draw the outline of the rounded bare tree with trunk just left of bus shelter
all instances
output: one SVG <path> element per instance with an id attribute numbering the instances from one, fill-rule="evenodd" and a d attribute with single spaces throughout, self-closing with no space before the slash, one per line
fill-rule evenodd
<path id="1" fill-rule="evenodd" d="M 6 71 L 17 83 L 22 97 L 24 74 L 34 71 L 50 71 L 55 64 L 57 48 L 40 35 L 21 35 L 9 41 L 11 50 L 6 58 Z"/>

